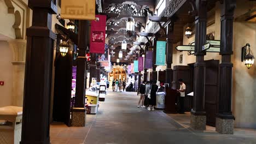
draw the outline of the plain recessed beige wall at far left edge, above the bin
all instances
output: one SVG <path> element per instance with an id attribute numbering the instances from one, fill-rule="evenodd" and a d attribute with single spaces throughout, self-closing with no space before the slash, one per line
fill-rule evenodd
<path id="1" fill-rule="evenodd" d="M 12 105 L 13 88 L 13 54 L 7 41 L 0 41 L 0 81 L 4 81 L 4 86 L 0 86 L 0 107 Z"/>

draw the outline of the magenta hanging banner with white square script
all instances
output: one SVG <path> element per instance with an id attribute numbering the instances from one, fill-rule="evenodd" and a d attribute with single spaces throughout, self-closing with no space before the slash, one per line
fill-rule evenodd
<path id="1" fill-rule="evenodd" d="M 105 52 L 106 15 L 96 15 L 98 21 L 91 21 L 90 53 Z"/>

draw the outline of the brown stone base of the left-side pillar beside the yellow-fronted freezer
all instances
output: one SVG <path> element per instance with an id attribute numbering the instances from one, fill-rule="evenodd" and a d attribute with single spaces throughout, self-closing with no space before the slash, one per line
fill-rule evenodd
<path id="1" fill-rule="evenodd" d="M 84 107 L 73 107 L 72 109 L 72 127 L 85 127 L 86 110 Z"/>

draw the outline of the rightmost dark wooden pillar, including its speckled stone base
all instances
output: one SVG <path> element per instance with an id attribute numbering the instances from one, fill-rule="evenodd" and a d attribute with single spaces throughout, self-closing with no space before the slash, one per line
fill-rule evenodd
<path id="1" fill-rule="evenodd" d="M 221 3 L 220 13 L 220 91 L 219 111 L 216 118 L 216 131 L 222 134 L 234 133 L 234 116 L 231 111 L 232 98 L 232 67 L 231 55 L 233 54 L 233 20 L 236 0 L 225 0 Z"/>

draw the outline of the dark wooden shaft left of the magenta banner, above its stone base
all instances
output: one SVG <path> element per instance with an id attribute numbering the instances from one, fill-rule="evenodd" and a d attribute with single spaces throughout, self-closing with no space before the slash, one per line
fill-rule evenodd
<path id="1" fill-rule="evenodd" d="M 86 47 L 88 45 L 89 21 L 79 20 L 78 27 L 78 57 L 77 57 L 77 83 L 75 87 L 75 107 L 84 107 L 86 85 Z"/>

